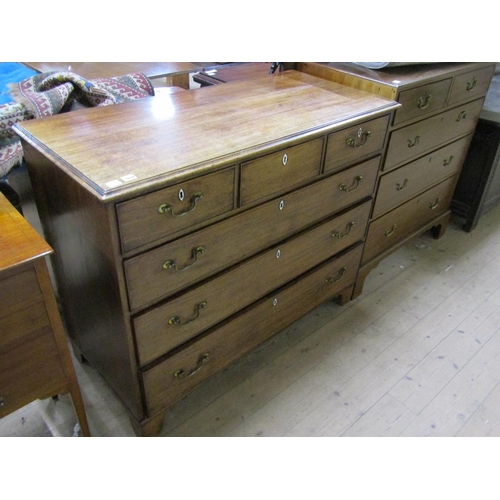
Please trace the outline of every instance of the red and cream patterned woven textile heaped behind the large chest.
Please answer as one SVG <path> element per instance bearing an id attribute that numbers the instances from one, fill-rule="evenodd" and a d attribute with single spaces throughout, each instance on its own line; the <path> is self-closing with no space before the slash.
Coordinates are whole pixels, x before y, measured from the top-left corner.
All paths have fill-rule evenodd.
<path id="1" fill-rule="evenodd" d="M 22 148 L 12 125 L 82 108 L 110 106 L 154 96 L 143 73 L 86 80 L 70 71 L 41 73 L 10 85 L 14 102 L 0 105 L 0 177 L 22 162 Z"/>

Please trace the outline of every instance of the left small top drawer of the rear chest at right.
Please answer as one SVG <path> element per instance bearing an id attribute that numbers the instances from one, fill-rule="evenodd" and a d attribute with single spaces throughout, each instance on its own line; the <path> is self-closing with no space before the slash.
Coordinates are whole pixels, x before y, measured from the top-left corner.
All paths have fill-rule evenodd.
<path id="1" fill-rule="evenodd" d="M 444 109 L 451 78 L 401 92 L 398 101 L 403 105 L 396 111 L 394 125 Z"/>

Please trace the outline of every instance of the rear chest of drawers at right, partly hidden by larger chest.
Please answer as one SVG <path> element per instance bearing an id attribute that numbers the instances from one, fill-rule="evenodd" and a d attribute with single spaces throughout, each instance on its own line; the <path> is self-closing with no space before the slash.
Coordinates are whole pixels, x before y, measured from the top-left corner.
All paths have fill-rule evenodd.
<path id="1" fill-rule="evenodd" d="M 495 63 L 421 64 L 366 69 L 298 63 L 298 69 L 398 101 L 353 297 L 369 272 L 429 229 L 441 236 Z"/>

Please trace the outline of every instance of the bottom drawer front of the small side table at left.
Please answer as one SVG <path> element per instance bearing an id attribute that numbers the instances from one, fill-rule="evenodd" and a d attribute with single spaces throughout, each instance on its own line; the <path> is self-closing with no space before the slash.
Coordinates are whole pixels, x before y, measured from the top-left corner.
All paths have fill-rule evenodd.
<path id="1" fill-rule="evenodd" d="M 51 333 L 0 353 L 0 418 L 35 399 L 58 394 L 65 385 Z"/>

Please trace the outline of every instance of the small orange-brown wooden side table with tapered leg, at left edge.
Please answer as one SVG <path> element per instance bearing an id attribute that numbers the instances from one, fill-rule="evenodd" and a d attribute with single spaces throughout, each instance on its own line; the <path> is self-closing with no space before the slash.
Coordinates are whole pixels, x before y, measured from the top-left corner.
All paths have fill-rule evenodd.
<path id="1" fill-rule="evenodd" d="M 70 393 L 90 436 L 45 256 L 52 248 L 0 193 L 0 418 Z"/>

